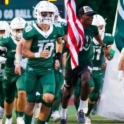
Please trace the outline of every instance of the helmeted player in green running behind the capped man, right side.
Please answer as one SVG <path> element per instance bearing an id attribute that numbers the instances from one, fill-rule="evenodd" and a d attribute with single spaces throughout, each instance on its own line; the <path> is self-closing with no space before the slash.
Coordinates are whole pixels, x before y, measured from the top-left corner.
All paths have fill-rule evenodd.
<path id="1" fill-rule="evenodd" d="M 106 22 L 105 19 L 101 15 L 94 15 L 93 18 L 93 25 L 96 25 L 98 27 L 99 34 L 101 36 L 101 39 L 103 43 L 109 47 L 114 42 L 114 37 L 111 34 L 105 33 L 105 26 Z M 94 104 L 97 102 L 99 98 L 99 92 L 102 85 L 102 79 L 103 79 L 103 58 L 104 58 L 104 52 L 100 46 L 100 44 L 97 42 L 95 38 L 93 38 L 93 71 L 92 76 L 90 79 L 90 93 L 88 97 L 88 111 L 85 114 L 85 124 L 91 124 L 91 119 L 89 117 Z M 112 50 L 113 51 L 113 50 Z M 114 51 L 113 51 L 114 52 Z M 111 53 L 111 58 L 113 58 L 114 54 Z"/>

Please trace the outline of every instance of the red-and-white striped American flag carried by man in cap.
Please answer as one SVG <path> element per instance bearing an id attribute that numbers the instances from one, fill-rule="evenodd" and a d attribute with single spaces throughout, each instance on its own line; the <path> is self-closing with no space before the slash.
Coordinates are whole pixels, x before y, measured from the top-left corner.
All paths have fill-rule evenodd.
<path id="1" fill-rule="evenodd" d="M 68 22 L 67 47 L 71 55 L 71 66 L 78 66 L 78 53 L 84 45 L 84 29 L 76 16 L 76 0 L 64 0 Z"/>

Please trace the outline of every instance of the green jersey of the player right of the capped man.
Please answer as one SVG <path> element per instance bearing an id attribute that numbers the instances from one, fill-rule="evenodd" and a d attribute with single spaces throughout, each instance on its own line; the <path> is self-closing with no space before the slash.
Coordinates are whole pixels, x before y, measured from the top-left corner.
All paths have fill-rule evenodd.
<path id="1" fill-rule="evenodd" d="M 105 33 L 103 37 L 103 43 L 108 46 L 108 45 L 112 45 L 113 42 L 114 42 L 114 37 L 111 34 Z M 104 53 L 100 44 L 96 40 L 93 40 L 93 50 L 94 50 L 93 67 L 101 68 Z"/>

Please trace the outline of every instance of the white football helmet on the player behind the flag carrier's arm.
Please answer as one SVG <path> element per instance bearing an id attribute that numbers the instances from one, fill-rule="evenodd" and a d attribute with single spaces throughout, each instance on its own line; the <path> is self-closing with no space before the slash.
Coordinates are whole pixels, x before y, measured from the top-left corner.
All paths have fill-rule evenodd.
<path id="1" fill-rule="evenodd" d="M 101 15 L 97 14 L 93 16 L 92 25 L 96 25 L 97 27 L 103 26 L 102 29 L 99 29 L 100 36 L 102 36 L 105 33 L 106 22 L 105 22 L 105 19 Z"/>

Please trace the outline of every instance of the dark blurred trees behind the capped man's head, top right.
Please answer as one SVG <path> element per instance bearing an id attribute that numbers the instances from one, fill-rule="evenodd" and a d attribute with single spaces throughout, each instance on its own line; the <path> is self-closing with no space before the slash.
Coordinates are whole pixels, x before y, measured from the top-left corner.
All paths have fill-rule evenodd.
<path id="1" fill-rule="evenodd" d="M 76 0 L 77 14 L 80 7 L 88 5 L 107 22 L 106 32 L 112 33 L 118 0 Z"/>

